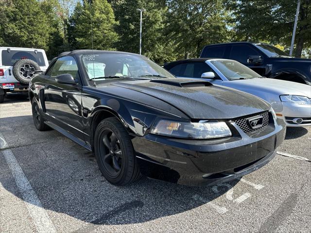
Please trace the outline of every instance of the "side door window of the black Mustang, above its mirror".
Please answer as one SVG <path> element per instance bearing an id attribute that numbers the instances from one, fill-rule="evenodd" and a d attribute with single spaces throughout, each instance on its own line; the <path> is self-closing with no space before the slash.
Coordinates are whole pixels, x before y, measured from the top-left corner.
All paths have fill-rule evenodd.
<path id="1" fill-rule="evenodd" d="M 46 73 L 53 80 L 60 74 L 71 74 L 73 78 L 79 80 L 78 66 L 73 57 L 65 56 L 57 59 Z"/>

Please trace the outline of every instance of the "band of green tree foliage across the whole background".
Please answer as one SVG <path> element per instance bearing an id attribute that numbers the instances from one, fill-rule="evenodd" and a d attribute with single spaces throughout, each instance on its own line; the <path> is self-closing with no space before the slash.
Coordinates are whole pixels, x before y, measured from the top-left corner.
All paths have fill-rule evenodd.
<path id="1" fill-rule="evenodd" d="M 157 63 L 197 57 L 205 45 L 265 41 L 289 50 L 296 0 L 0 0 L 0 46 L 139 52 Z M 72 7 L 76 5 L 76 7 Z M 115 17 L 116 16 L 116 17 Z M 311 56 L 311 0 L 301 0 L 296 57 Z"/>

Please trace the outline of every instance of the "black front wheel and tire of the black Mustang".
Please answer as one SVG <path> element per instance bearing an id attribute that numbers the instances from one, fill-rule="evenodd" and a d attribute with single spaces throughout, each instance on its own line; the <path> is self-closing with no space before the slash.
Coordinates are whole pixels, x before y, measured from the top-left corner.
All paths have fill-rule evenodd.
<path id="1" fill-rule="evenodd" d="M 94 148 L 98 166 L 108 182 L 125 185 L 140 178 L 130 136 L 117 118 L 106 118 L 99 123 Z"/>

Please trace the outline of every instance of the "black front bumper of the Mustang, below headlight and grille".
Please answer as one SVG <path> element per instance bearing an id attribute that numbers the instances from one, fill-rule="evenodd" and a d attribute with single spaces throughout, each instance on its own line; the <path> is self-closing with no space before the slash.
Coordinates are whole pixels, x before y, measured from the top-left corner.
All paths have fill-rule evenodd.
<path id="1" fill-rule="evenodd" d="M 140 171 L 154 179 L 191 186 L 226 182 L 270 162 L 286 133 L 282 119 L 252 135 L 243 133 L 233 122 L 230 128 L 233 136 L 213 140 L 174 139 L 153 134 L 135 137 L 132 142 Z"/>

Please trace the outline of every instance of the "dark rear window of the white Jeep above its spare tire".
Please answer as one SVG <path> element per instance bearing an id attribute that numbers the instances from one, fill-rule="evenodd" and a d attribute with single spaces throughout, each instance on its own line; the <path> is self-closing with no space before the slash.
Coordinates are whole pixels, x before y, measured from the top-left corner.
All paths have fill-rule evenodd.
<path id="1" fill-rule="evenodd" d="M 13 66 L 20 59 L 30 59 L 35 61 L 40 67 L 45 66 L 45 61 L 42 52 L 21 51 L 21 50 L 2 50 L 1 52 L 2 66 Z"/>

